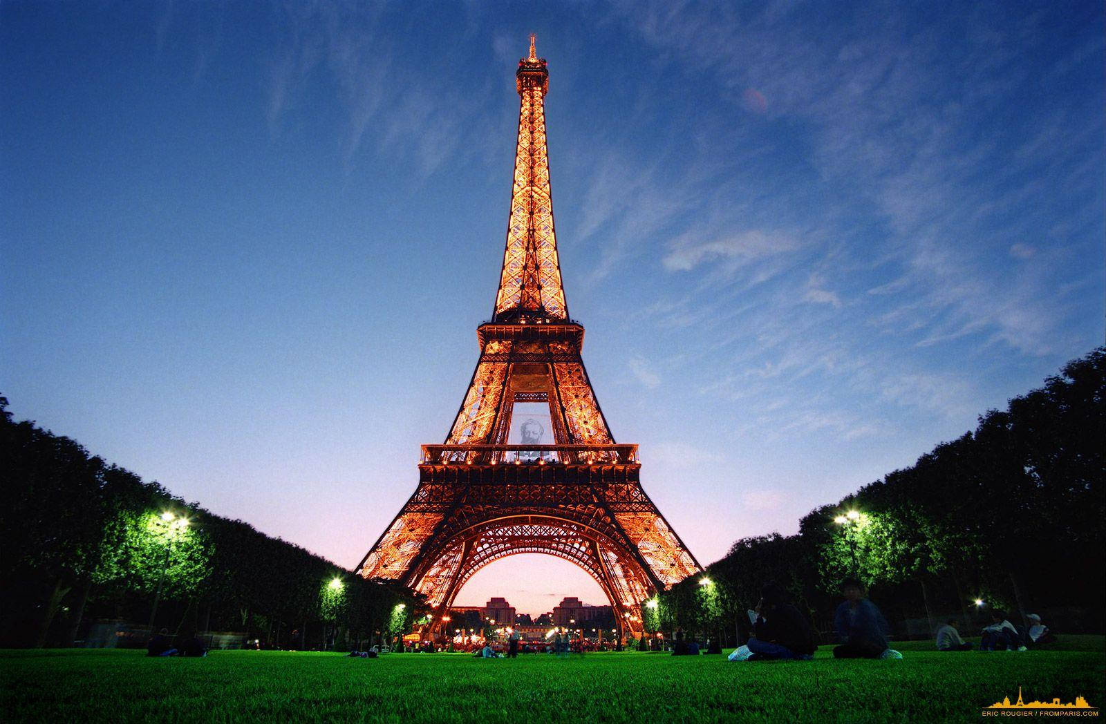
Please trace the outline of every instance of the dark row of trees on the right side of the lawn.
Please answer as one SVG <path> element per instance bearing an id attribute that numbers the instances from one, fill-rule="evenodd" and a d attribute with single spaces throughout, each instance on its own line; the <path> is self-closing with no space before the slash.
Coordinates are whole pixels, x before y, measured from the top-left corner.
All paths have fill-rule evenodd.
<path id="1" fill-rule="evenodd" d="M 899 636 L 928 636 L 939 616 L 979 622 L 991 607 L 1100 631 L 1104 441 L 1098 348 L 983 415 L 974 432 L 812 511 L 797 535 L 738 541 L 706 576 L 649 602 L 647 630 L 740 638 L 774 580 L 828 632 L 839 581 L 856 575 Z"/>

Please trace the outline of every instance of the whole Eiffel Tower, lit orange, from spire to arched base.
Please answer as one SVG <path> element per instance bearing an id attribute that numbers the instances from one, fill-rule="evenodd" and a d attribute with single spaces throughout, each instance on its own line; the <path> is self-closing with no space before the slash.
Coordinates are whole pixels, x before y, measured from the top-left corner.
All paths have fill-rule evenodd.
<path id="1" fill-rule="evenodd" d="M 415 493 L 361 562 L 365 578 L 425 594 L 428 631 L 480 568 L 517 553 L 571 560 L 599 584 L 622 633 L 641 604 L 701 570 L 641 489 L 636 444 L 617 444 L 568 317 L 553 230 L 545 59 L 519 61 L 519 140 L 507 250 L 480 359 L 445 444 L 422 445 Z M 553 444 L 508 444 L 520 402 L 549 406 Z M 541 409 L 541 408 L 539 408 Z M 523 436 L 526 437 L 526 436 Z"/>

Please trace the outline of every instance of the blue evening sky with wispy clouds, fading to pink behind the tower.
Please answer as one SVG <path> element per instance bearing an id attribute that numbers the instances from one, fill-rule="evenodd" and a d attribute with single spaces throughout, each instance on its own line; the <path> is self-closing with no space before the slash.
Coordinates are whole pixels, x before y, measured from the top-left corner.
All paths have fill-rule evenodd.
<path id="1" fill-rule="evenodd" d="M 4 2 L 15 416 L 355 565 L 476 363 L 530 32 L 585 363 L 700 562 L 1102 344 L 1098 2 Z"/>

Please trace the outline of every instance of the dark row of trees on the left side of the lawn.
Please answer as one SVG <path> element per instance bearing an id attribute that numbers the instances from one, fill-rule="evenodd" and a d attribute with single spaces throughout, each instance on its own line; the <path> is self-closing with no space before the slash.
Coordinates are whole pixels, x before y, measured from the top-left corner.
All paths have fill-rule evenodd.
<path id="1" fill-rule="evenodd" d="M 0 397 L 0 647 L 72 646 L 107 619 L 322 648 L 390 640 L 424 613 L 409 590 L 186 504 L 14 422 L 7 405 Z"/>

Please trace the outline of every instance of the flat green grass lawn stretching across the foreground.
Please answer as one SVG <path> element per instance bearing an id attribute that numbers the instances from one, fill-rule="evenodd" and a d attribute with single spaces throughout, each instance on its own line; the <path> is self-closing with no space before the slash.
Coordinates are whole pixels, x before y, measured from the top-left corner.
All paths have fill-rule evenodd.
<path id="1" fill-rule="evenodd" d="M 215 651 L 0 652 L 6 722 L 392 721 L 966 721 L 1018 696 L 1106 703 L 1106 639 L 1066 650 L 938 653 L 901 644 L 901 661 L 730 663 L 724 657 L 591 653 L 479 660 L 465 654 Z"/>

